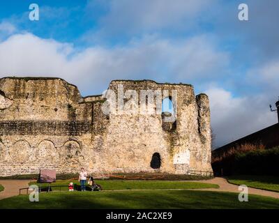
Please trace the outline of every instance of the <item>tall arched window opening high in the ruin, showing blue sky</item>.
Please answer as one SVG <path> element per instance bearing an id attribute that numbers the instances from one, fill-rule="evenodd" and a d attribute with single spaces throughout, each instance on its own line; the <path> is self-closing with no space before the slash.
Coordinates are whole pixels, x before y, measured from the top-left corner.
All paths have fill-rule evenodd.
<path id="1" fill-rule="evenodd" d="M 176 130 L 174 105 L 170 96 L 162 100 L 162 128 L 166 131 Z"/>

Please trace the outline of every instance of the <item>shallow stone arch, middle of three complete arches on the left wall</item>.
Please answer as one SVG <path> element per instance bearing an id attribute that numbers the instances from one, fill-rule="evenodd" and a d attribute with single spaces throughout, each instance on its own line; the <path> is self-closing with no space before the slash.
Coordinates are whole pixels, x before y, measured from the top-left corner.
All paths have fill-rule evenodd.
<path id="1" fill-rule="evenodd" d="M 59 160 L 59 154 L 54 143 L 47 139 L 40 141 L 36 147 L 36 159 L 39 159 L 40 162 L 57 162 Z"/>

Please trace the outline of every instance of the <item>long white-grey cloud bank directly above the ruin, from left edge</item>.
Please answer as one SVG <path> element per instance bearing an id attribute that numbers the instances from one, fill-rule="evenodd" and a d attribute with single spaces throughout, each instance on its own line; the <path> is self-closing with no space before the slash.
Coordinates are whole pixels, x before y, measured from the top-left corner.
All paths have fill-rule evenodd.
<path id="1" fill-rule="evenodd" d="M 206 36 L 175 43 L 146 36 L 125 47 L 80 52 L 68 43 L 17 34 L 0 43 L 0 74 L 62 77 L 83 93 L 100 93 L 112 79 L 182 82 L 215 74 L 227 63 L 228 55 L 210 42 Z"/>

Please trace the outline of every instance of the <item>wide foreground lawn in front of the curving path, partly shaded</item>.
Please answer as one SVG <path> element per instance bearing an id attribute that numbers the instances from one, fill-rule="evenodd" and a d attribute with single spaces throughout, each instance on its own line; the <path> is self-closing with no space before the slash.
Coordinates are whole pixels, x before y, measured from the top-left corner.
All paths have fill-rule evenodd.
<path id="1" fill-rule="evenodd" d="M 279 199 L 249 195 L 240 202 L 237 193 L 196 190 L 44 192 L 39 202 L 18 195 L 0 200 L 0 208 L 279 208 Z"/>

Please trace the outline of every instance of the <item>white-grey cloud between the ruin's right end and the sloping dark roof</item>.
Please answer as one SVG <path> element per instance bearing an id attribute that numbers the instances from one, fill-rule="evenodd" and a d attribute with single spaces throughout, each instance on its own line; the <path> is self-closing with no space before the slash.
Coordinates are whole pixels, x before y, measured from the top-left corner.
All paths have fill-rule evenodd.
<path id="1" fill-rule="evenodd" d="M 277 122 L 276 114 L 269 110 L 268 95 L 234 97 L 218 87 L 206 91 L 210 98 L 211 125 L 216 134 L 216 145 L 242 138 Z"/>

